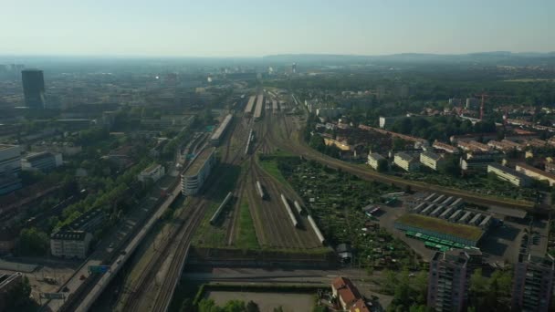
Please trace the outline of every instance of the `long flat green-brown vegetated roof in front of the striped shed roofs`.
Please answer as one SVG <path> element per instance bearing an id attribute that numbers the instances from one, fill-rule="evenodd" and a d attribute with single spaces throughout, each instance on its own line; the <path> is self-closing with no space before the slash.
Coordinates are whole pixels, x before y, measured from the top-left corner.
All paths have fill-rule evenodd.
<path id="1" fill-rule="evenodd" d="M 397 219 L 398 223 L 419 227 L 425 230 L 442 234 L 449 234 L 467 240 L 477 241 L 484 231 L 479 227 L 466 224 L 453 224 L 443 219 L 429 217 L 421 214 L 408 213 Z"/>

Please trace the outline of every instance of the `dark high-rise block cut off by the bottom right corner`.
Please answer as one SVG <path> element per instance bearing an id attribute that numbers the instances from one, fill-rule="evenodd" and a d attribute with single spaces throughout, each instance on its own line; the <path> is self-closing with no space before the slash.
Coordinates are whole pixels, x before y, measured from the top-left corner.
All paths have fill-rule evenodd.
<path id="1" fill-rule="evenodd" d="M 513 310 L 547 312 L 550 309 L 554 265 L 551 255 L 520 255 L 513 277 Z"/>

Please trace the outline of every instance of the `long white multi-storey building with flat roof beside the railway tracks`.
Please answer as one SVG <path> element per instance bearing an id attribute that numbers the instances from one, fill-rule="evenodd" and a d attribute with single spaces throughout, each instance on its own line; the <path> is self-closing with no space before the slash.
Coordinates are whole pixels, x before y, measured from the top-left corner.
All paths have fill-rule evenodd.
<path id="1" fill-rule="evenodd" d="M 195 195 L 200 192 L 215 166 L 215 148 L 201 151 L 182 174 L 183 195 Z"/>

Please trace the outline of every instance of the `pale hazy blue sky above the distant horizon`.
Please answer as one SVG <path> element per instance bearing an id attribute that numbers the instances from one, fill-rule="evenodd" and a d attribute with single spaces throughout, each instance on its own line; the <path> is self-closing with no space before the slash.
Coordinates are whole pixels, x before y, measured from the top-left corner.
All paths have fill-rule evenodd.
<path id="1" fill-rule="evenodd" d="M 555 0 L 0 0 L 0 54 L 555 51 Z"/>

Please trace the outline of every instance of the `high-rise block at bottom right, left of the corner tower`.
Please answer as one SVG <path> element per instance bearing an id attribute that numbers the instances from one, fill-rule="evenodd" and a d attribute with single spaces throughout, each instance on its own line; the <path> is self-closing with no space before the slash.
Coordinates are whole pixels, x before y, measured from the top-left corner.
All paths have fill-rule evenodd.
<path id="1" fill-rule="evenodd" d="M 470 275 L 480 263 L 479 251 L 456 249 L 435 253 L 430 263 L 428 307 L 435 311 L 464 311 Z"/>

